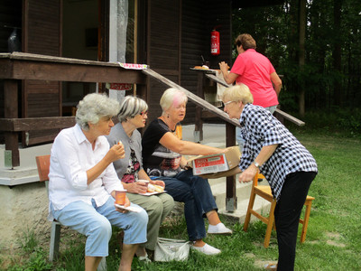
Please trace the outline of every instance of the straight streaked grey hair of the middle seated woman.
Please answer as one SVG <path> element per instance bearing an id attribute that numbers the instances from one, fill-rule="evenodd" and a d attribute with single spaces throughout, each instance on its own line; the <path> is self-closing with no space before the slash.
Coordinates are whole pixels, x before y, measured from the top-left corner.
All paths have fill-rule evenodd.
<path id="1" fill-rule="evenodd" d="M 128 95 L 120 102 L 118 119 L 120 122 L 124 122 L 146 110 L 148 110 L 148 105 L 142 98 Z"/>

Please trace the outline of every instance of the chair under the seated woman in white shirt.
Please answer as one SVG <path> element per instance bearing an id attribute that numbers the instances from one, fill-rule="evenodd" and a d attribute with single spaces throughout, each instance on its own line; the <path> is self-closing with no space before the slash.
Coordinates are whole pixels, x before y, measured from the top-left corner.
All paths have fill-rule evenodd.
<path id="1" fill-rule="evenodd" d="M 38 167 L 39 180 L 45 182 L 46 190 L 49 191 L 49 169 L 51 166 L 51 155 L 36 156 L 36 165 Z M 59 245 L 60 245 L 60 222 L 57 220 L 51 221 L 51 246 L 49 250 L 49 260 L 52 262 L 55 258 L 59 257 Z M 106 270 L 106 257 L 103 257 L 98 271 Z"/>

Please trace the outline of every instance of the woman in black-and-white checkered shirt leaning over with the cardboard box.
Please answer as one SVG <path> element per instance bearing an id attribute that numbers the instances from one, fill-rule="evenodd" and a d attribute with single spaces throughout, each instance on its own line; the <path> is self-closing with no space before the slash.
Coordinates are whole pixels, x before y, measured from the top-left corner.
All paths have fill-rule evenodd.
<path id="1" fill-rule="evenodd" d="M 310 152 L 264 107 L 254 106 L 245 84 L 223 93 L 224 110 L 237 118 L 245 147 L 239 164 L 239 182 L 251 182 L 260 170 L 277 201 L 274 220 L 277 229 L 280 270 L 293 270 L 302 206 L 310 183 L 318 172 Z"/>

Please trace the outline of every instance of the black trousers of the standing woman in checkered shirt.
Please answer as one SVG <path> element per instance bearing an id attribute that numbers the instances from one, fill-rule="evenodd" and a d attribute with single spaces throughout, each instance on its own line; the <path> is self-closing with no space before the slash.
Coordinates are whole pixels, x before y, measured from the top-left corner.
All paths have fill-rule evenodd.
<path id="1" fill-rule="evenodd" d="M 277 271 L 293 270 L 301 210 L 316 173 L 298 172 L 287 175 L 280 200 L 274 209 L 278 241 Z"/>

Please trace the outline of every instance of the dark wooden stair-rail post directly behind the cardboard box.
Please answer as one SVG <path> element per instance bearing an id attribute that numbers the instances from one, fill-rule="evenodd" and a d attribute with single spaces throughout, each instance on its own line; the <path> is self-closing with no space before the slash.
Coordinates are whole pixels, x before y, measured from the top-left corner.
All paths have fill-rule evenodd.
<path id="1" fill-rule="evenodd" d="M 226 146 L 236 145 L 236 126 L 226 123 Z M 236 197 L 236 175 L 226 179 L 226 210 L 235 211 L 237 209 Z"/>

